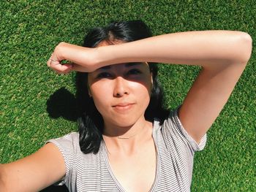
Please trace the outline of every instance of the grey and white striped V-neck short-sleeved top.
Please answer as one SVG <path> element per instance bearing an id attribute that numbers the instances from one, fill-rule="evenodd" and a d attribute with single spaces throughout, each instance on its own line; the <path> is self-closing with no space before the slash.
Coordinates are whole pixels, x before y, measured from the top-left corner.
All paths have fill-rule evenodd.
<path id="1" fill-rule="evenodd" d="M 153 138 L 157 169 L 151 191 L 190 191 L 194 153 L 203 150 L 206 135 L 197 145 L 174 110 L 162 126 L 159 120 L 154 120 Z M 67 185 L 69 191 L 124 191 L 111 171 L 104 141 L 97 154 L 80 151 L 77 132 L 48 142 L 59 147 L 64 157 L 66 175 L 59 185 Z"/>

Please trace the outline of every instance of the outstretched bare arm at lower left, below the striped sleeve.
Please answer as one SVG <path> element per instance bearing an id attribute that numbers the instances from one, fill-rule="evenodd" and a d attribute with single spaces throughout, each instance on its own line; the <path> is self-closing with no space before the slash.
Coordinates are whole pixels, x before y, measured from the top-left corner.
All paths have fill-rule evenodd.
<path id="1" fill-rule="evenodd" d="M 64 159 L 58 148 L 49 143 L 26 158 L 0 164 L 0 191 L 40 191 L 61 180 L 64 174 Z"/>

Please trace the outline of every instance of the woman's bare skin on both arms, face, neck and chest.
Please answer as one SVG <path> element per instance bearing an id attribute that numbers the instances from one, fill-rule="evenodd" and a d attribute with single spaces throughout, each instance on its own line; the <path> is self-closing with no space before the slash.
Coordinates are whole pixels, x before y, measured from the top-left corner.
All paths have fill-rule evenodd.
<path id="1" fill-rule="evenodd" d="M 91 96 L 94 97 L 105 120 L 103 137 L 108 147 L 111 169 L 127 191 L 145 191 L 151 187 L 155 173 L 156 155 L 151 137 L 152 125 L 143 119 L 140 110 L 133 116 L 133 107 L 120 114 L 111 107 L 116 101 L 125 101 L 121 100 L 124 98 L 137 103 L 137 94 L 146 97 L 145 102 L 140 103 L 144 107 L 148 102 L 151 76 L 146 75 L 146 78 L 139 80 L 132 77 L 131 80 L 126 76 L 127 69 L 124 65 L 128 62 L 148 61 L 202 67 L 178 114 L 190 136 L 200 142 L 227 102 L 244 71 L 251 51 L 252 39 L 244 32 L 189 31 L 97 48 L 62 42 L 56 46 L 51 56 L 54 61 L 49 59 L 48 66 L 58 73 L 92 72 L 89 75 L 89 86 Z M 64 59 L 73 64 L 61 65 L 60 62 Z M 111 66 L 110 71 L 114 76 L 110 79 L 95 80 L 94 71 L 102 66 Z M 99 90 L 99 82 L 102 81 L 110 83 L 109 91 Z M 139 88 L 142 93 L 138 93 Z M 108 93 L 106 98 L 110 105 L 102 104 L 99 93 L 104 96 Z M 108 112 L 120 115 L 120 120 L 111 118 Z M 131 119 L 127 118 L 129 115 Z M 141 132 L 138 132 L 139 128 Z M 130 139 L 117 139 L 117 136 L 131 136 L 135 133 L 138 134 Z M 143 164 L 145 158 L 148 159 L 148 164 Z M 130 166 L 131 163 L 135 166 Z M 0 191 L 39 191 L 60 180 L 64 174 L 65 166 L 61 153 L 54 145 L 48 144 L 22 160 L 1 164 Z M 131 177 L 134 179 L 129 180 Z M 142 177 L 145 179 L 142 180 Z"/>

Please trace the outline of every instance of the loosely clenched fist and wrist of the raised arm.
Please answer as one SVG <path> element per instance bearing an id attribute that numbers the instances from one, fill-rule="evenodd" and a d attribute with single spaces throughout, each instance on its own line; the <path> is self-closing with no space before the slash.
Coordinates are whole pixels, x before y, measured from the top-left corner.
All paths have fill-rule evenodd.
<path id="1" fill-rule="evenodd" d="M 92 72 L 98 68 L 96 50 L 97 48 L 80 47 L 61 42 L 55 47 L 47 64 L 58 74 L 67 74 L 72 71 Z M 68 62 L 63 64 L 62 61 Z"/>

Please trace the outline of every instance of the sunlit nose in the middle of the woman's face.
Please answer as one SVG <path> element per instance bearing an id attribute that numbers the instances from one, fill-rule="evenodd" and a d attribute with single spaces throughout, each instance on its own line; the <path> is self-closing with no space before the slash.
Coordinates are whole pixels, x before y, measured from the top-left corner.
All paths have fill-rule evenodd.
<path id="1" fill-rule="evenodd" d="M 129 94 L 127 80 L 125 80 L 123 77 L 116 77 L 114 83 L 115 84 L 114 84 L 113 96 L 121 97 L 126 94 Z"/>

